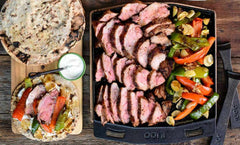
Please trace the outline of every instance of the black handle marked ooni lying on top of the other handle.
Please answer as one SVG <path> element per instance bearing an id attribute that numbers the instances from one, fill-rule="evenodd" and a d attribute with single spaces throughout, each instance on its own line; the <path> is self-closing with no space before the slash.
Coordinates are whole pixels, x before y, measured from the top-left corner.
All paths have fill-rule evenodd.
<path id="1" fill-rule="evenodd" d="M 226 130 L 228 126 L 228 120 L 230 116 L 230 109 L 233 102 L 233 96 L 236 94 L 236 87 L 238 86 L 240 80 L 240 73 L 227 71 L 228 75 L 228 90 L 227 95 L 218 118 L 216 133 L 212 137 L 211 145 L 223 145 Z"/>

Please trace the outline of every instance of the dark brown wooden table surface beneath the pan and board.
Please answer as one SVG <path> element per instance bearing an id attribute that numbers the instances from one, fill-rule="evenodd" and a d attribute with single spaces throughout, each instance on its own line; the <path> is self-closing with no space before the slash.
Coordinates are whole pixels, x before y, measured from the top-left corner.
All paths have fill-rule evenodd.
<path id="1" fill-rule="evenodd" d="M 95 138 L 93 135 L 93 126 L 90 121 L 90 72 L 89 72 L 89 12 L 93 9 L 103 8 L 117 4 L 130 2 L 131 0 L 112 0 L 113 2 L 104 4 L 98 0 L 83 0 L 83 6 L 86 11 L 87 27 L 83 40 L 83 57 L 87 64 L 86 74 L 83 77 L 83 131 L 80 135 L 69 136 L 65 140 L 53 142 L 53 144 L 123 144 L 114 141 L 107 141 Z M 157 1 L 157 0 L 156 0 Z M 217 13 L 217 35 L 221 42 L 231 41 L 232 45 L 232 63 L 234 71 L 240 72 L 240 0 L 207 0 L 206 2 L 191 2 L 186 0 L 174 0 L 173 2 L 182 2 L 195 6 L 213 9 Z M 0 5 L 4 0 L 0 0 Z M 10 56 L 0 45 L 0 144 L 40 144 L 25 138 L 22 135 L 15 135 L 11 131 L 10 116 L 10 98 L 11 98 L 11 66 Z M 218 92 L 221 99 L 224 98 L 226 87 L 224 86 L 224 74 L 222 62 L 218 57 Z M 16 72 L 18 73 L 18 72 Z M 240 87 L 238 87 L 240 92 Z M 177 135 L 177 134 L 176 134 Z M 190 142 L 179 144 L 208 144 L 210 138 L 192 140 Z M 240 129 L 228 129 L 224 144 L 239 144 Z M 43 143 L 42 143 L 43 144 Z M 45 143 L 44 143 L 45 144 Z M 49 143 L 50 144 L 50 143 Z M 125 144 L 125 143 L 124 143 Z"/>

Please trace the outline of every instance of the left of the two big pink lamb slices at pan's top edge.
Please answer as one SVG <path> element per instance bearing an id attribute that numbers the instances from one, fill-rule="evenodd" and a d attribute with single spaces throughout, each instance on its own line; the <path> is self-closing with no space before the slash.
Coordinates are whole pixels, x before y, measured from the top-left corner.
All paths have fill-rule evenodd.
<path id="1" fill-rule="evenodd" d="M 126 21 L 127 19 L 131 18 L 133 15 L 139 13 L 146 6 L 147 6 L 146 4 L 143 4 L 140 2 L 126 4 L 122 8 L 118 18 L 121 19 L 122 21 Z"/>

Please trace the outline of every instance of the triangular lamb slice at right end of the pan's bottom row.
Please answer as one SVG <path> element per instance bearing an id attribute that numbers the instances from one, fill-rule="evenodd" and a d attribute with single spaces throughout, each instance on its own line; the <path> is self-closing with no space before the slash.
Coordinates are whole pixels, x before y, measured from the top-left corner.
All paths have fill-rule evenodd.
<path id="1" fill-rule="evenodd" d="M 149 126 L 155 125 L 159 122 L 164 122 L 166 119 L 166 114 L 164 113 L 162 107 L 158 102 L 155 103 L 155 108 L 153 110 L 153 114 L 149 119 Z"/>

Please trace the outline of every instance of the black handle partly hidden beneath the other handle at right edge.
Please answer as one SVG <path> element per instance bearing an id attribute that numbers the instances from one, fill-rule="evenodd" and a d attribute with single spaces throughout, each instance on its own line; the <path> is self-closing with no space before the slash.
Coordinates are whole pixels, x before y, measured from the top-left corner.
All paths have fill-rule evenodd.
<path id="1" fill-rule="evenodd" d="M 230 42 L 219 44 L 218 51 L 222 57 L 224 69 L 232 71 Z M 240 102 L 238 99 L 237 89 L 235 91 L 237 93 L 235 93 L 233 97 L 233 104 L 232 104 L 232 109 L 230 114 L 230 125 L 232 129 L 240 127 Z"/>

